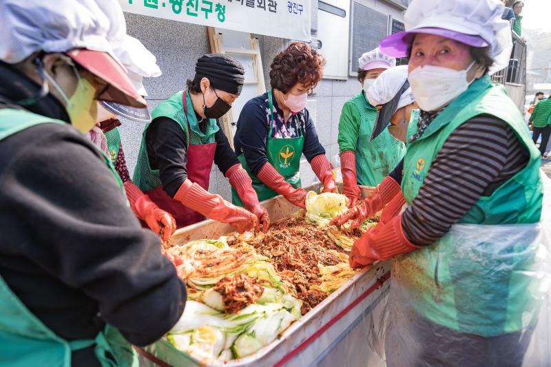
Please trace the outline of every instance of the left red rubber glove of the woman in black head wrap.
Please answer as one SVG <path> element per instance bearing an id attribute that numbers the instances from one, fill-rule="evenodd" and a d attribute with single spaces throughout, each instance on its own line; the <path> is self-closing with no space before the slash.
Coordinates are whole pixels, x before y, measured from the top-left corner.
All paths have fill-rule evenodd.
<path id="1" fill-rule="evenodd" d="M 240 233 L 251 231 L 258 225 L 256 216 L 247 209 L 236 207 L 236 205 L 222 199 L 222 196 L 209 193 L 209 191 L 187 178 L 178 189 L 174 200 L 178 200 L 186 207 L 198 211 L 207 218 L 229 223 L 231 227 Z"/>

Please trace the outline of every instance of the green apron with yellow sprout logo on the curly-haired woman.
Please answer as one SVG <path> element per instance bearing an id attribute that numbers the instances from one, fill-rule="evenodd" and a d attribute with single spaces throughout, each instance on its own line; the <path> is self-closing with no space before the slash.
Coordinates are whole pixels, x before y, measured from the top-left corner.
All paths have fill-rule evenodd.
<path id="1" fill-rule="evenodd" d="M 278 174 L 283 176 L 286 182 L 291 184 L 295 189 L 300 187 L 300 157 L 302 156 L 302 148 L 304 147 L 304 130 L 302 136 L 298 138 L 272 138 L 272 130 L 275 125 L 273 120 L 273 96 L 272 91 L 268 91 L 268 106 L 270 109 L 270 128 L 266 139 L 266 155 L 268 162 L 278 171 Z M 256 176 L 251 173 L 245 155 L 240 154 L 238 156 L 239 162 L 247 174 L 253 181 L 253 189 L 258 195 L 258 200 L 267 200 L 278 196 L 279 194 L 264 185 L 264 182 L 258 180 Z M 243 202 L 239 198 L 237 191 L 231 188 L 231 201 L 235 205 L 243 206 Z"/>

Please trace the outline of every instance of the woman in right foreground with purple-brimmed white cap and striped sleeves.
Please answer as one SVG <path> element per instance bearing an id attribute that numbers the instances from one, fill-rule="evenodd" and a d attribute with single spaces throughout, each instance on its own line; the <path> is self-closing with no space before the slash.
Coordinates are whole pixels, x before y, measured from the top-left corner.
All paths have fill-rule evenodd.
<path id="1" fill-rule="evenodd" d="M 549 365 L 548 349 L 538 362 L 526 350 L 548 288 L 540 254 L 550 213 L 526 123 L 488 75 L 510 55 L 501 14 L 498 0 L 413 0 L 406 32 L 380 43 L 410 57 L 421 110 L 397 167 L 400 187 L 370 210 L 402 203 L 388 204 L 351 251 L 355 267 L 399 255 L 388 366 Z M 537 342 L 548 345 L 547 334 Z"/>

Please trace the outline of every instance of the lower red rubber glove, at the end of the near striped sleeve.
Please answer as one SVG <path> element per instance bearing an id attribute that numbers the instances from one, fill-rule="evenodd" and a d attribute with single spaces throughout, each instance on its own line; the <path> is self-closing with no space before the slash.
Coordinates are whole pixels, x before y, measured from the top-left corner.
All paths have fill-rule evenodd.
<path id="1" fill-rule="evenodd" d="M 377 260 L 390 259 L 419 248 L 420 246 L 409 242 L 404 235 L 402 216 L 395 216 L 388 223 L 377 224 L 377 227 L 356 240 L 349 262 L 351 268 L 362 268 Z"/>

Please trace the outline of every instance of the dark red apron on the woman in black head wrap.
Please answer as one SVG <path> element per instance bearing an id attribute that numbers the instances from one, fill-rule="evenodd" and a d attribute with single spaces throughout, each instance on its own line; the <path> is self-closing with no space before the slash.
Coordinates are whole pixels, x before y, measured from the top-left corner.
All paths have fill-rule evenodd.
<path id="1" fill-rule="evenodd" d="M 186 92 L 182 97 L 184 113 L 187 116 Z M 187 178 L 200 185 L 205 190 L 209 190 L 209 179 L 212 163 L 214 162 L 214 153 L 216 152 L 216 143 L 207 143 L 202 145 L 191 144 L 191 130 L 187 123 L 189 144 L 187 147 Z M 178 200 L 174 200 L 163 190 L 163 185 L 146 192 L 149 198 L 155 202 L 160 209 L 167 211 L 174 216 L 176 227 L 181 228 L 205 220 L 202 214 L 185 207 Z"/>

